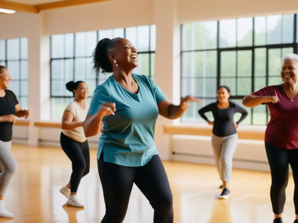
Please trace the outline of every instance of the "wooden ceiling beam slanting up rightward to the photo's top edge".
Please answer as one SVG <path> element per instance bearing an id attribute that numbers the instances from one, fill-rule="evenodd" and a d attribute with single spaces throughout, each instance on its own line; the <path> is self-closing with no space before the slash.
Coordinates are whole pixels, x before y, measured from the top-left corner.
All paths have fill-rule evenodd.
<path id="1" fill-rule="evenodd" d="M 98 3 L 103 1 L 111 1 L 111 0 L 64 0 L 64 1 L 54 1 L 49 3 L 36 4 L 34 5 L 34 7 L 40 11 L 45 11 L 45 10 L 51 10 L 51 9 L 57 9 L 57 8 L 76 6 L 76 5 Z"/>

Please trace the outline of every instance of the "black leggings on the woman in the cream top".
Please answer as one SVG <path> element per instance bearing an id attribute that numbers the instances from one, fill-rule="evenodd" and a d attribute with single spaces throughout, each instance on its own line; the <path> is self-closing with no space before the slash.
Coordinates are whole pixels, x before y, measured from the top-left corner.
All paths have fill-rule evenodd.
<path id="1" fill-rule="evenodd" d="M 61 132 L 60 144 L 63 151 L 72 161 L 72 175 L 70 177 L 70 191 L 77 192 L 81 178 L 89 173 L 90 153 L 88 140 L 77 142 Z"/>

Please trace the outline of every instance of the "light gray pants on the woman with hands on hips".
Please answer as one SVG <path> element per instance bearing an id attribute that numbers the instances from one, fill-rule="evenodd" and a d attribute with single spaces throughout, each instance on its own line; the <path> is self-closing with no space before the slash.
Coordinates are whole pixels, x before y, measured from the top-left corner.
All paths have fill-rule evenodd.
<path id="1" fill-rule="evenodd" d="M 212 134 L 211 144 L 213 147 L 215 165 L 222 181 L 231 181 L 233 155 L 237 143 L 237 133 L 225 137 L 218 137 Z"/>

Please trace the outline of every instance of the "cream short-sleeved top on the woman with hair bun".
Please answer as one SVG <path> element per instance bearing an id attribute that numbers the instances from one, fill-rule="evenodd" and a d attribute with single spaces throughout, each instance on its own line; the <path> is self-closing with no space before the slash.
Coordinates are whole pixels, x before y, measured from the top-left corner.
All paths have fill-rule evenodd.
<path id="1" fill-rule="evenodd" d="M 79 103 L 74 100 L 69 103 L 65 110 L 68 110 L 74 114 L 73 122 L 83 122 L 86 119 L 88 109 L 89 106 L 87 105 L 85 109 L 82 109 Z M 62 133 L 77 142 L 85 142 L 87 139 L 84 134 L 83 126 L 72 130 L 62 129 Z"/>

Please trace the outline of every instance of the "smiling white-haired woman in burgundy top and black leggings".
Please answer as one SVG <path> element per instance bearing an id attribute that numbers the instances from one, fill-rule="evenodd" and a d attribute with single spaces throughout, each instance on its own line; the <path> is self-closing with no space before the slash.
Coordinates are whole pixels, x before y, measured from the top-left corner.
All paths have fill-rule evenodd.
<path id="1" fill-rule="evenodd" d="M 283 84 L 264 87 L 243 98 L 243 105 L 255 107 L 267 104 L 270 121 L 265 132 L 265 148 L 271 170 L 271 204 L 274 223 L 283 223 L 285 189 L 288 185 L 289 164 L 295 183 L 294 205 L 298 223 L 298 55 L 283 59 Z"/>

